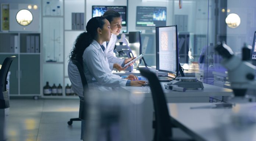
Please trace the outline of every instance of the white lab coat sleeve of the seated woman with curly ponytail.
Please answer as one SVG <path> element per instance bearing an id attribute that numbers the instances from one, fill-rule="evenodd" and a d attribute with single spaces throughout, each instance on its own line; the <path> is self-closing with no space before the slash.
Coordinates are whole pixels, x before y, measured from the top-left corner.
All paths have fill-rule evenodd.
<path id="1" fill-rule="evenodd" d="M 114 75 L 109 71 L 106 64 L 103 64 L 102 57 L 96 50 L 89 50 L 83 53 L 83 62 L 88 66 L 90 73 L 97 80 L 100 85 L 106 87 L 125 86 L 127 79 L 122 79 L 118 75 Z M 110 72 L 110 73 L 109 73 Z"/>

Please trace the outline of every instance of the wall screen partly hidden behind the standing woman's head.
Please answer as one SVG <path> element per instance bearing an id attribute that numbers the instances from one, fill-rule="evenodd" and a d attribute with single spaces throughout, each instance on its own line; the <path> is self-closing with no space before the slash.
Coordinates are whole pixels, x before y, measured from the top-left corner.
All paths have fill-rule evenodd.
<path id="1" fill-rule="evenodd" d="M 114 10 L 122 16 L 122 26 L 126 26 L 126 6 L 92 6 L 92 17 L 101 16 L 107 10 Z"/>

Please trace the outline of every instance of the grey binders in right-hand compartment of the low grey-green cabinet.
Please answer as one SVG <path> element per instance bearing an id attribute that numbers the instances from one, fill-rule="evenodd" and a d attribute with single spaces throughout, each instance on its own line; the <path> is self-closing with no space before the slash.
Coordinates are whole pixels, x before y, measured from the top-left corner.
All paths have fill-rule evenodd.
<path id="1" fill-rule="evenodd" d="M 26 36 L 26 52 L 39 53 L 39 36 Z"/>

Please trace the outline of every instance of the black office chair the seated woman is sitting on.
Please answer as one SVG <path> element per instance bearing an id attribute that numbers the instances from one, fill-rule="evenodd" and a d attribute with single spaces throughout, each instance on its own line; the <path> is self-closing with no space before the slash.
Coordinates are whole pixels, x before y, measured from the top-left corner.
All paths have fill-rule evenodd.
<path id="1" fill-rule="evenodd" d="M 85 74 L 83 73 L 83 67 L 77 60 L 71 59 L 71 61 L 78 68 L 83 85 L 83 96 L 85 96 L 85 92 L 88 90 L 88 83 L 86 81 Z M 71 118 L 70 121 L 68 121 L 68 125 L 72 125 L 73 121 L 81 121 L 81 119 L 84 120 L 84 101 L 80 99 L 79 116 L 78 118 Z"/>

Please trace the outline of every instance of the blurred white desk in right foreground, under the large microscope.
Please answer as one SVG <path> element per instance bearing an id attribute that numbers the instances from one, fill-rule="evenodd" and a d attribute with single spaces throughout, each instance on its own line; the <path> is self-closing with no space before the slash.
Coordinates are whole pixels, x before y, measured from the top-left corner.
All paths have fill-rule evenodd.
<path id="1" fill-rule="evenodd" d="M 255 118 L 256 103 L 236 104 L 230 109 L 190 109 L 211 103 L 168 103 L 173 124 L 197 141 L 255 141 L 256 122 L 235 124 L 234 115 Z M 251 112 L 248 112 L 251 111 Z M 234 118 L 233 118 L 234 119 Z M 238 119 L 236 119 L 239 121 Z M 234 121 L 234 120 L 233 120 Z M 240 120 L 241 121 L 241 120 Z"/>

